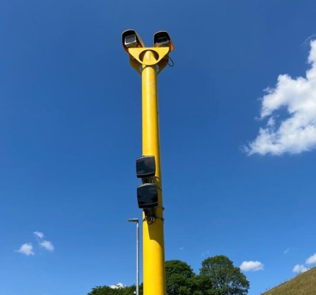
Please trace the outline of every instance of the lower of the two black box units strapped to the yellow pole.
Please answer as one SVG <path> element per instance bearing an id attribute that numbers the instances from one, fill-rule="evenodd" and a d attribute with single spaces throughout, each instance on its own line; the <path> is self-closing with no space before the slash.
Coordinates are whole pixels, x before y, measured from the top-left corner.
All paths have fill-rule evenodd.
<path id="1" fill-rule="evenodd" d="M 139 208 L 152 208 L 158 206 L 158 185 L 145 183 L 137 187 L 137 201 Z"/>

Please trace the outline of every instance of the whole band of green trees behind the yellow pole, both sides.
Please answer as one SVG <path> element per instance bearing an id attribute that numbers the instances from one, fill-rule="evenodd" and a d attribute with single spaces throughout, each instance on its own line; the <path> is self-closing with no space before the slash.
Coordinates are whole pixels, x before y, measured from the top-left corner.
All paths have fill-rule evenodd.
<path id="1" fill-rule="evenodd" d="M 203 260 L 198 275 L 186 262 L 166 261 L 167 295 L 247 295 L 248 289 L 246 276 L 224 255 Z M 135 291 L 135 285 L 118 289 L 97 286 L 88 295 L 134 295 Z M 143 295 L 143 284 L 140 295 Z"/>

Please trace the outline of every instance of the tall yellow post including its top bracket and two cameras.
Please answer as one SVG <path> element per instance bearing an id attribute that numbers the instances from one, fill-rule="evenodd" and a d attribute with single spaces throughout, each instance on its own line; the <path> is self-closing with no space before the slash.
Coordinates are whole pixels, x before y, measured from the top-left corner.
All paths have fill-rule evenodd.
<path id="1" fill-rule="evenodd" d="M 139 204 L 147 214 L 143 213 L 144 295 L 166 295 L 157 75 L 167 66 L 173 43 L 168 32 L 158 31 L 154 34 L 154 47 L 145 47 L 136 31 L 128 29 L 122 33 L 122 45 L 131 66 L 142 75 L 143 156 L 155 157 L 155 177 L 149 180 L 159 187 L 158 206 Z"/>

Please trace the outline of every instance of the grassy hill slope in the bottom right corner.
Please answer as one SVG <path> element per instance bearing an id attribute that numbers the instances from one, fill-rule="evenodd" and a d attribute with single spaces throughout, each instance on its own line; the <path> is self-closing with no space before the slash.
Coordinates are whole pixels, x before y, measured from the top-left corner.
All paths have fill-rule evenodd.
<path id="1" fill-rule="evenodd" d="M 316 267 L 262 295 L 316 295 Z"/>

